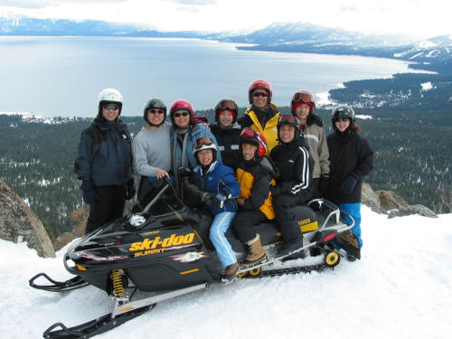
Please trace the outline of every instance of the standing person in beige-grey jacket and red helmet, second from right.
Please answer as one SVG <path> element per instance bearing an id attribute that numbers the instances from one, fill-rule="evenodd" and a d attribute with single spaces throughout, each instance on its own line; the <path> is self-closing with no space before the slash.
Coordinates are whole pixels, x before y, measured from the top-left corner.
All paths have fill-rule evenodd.
<path id="1" fill-rule="evenodd" d="M 313 198 L 318 198 L 325 192 L 330 175 L 325 123 L 315 114 L 315 98 L 307 89 L 297 90 L 290 101 L 290 108 L 300 122 L 301 134 L 309 145 L 309 154 L 314 158 Z"/>

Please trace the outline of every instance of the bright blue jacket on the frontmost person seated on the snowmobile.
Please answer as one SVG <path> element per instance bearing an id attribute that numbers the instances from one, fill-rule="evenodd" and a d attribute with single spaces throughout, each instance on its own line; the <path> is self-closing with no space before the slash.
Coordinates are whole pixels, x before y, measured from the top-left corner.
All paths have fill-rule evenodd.
<path id="1" fill-rule="evenodd" d="M 237 212 L 237 198 L 240 194 L 240 185 L 231 167 L 222 165 L 221 161 L 215 161 L 206 174 L 202 175 L 201 166 L 193 169 L 193 184 L 202 191 L 209 193 L 222 193 L 223 187 L 227 187 L 231 192 L 232 198 L 224 202 L 222 208 L 209 208 L 213 215 L 221 212 Z"/>

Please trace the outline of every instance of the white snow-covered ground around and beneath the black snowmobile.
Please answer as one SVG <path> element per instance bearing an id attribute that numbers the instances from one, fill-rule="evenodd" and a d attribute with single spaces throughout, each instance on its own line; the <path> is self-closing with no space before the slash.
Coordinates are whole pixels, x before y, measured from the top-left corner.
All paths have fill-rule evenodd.
<path id="1" fill-rule="evenodd" d="M 452 333 L 452 214 L 387 219 L 363 205 L 363 258 L 334 270 L 241 279 L 162 302 L 96 338 L 445 339 Z M 39 338 L 56 322 L 79 325 L 111 312 L 96 287 L 33 289 L 39 272 L 66 279 L 62 256 L 42 259 L 0 240 L 1 338 Z"/>

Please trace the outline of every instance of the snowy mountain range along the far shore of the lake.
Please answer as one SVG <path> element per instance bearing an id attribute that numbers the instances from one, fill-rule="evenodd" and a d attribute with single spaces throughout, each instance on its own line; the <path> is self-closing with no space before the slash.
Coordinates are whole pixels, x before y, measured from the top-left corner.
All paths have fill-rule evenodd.
<path id="1" fill-rule="evenodd" d="M 0 35 L 198 38 L 247 43 L 238 49 L 363 55 L 414 61 L 412 68 L 452 73 L 452 34 L 416 41 L 408 36 L 371 35 L 306 23 L 274 23 L 251 33 L 161 32 L 139 24 L 0 17 Z"/>

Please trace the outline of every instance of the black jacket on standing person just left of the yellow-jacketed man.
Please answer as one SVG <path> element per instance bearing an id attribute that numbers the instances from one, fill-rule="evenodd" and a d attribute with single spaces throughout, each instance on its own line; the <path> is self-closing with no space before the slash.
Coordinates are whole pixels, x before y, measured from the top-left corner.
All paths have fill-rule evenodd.
<path id="1" fill-rule="evenodd" d="M 240 152 L 240 125 L 232 124 L 231 128 L 223 129 L 218 124 L 210 126 L 212 135 L 216 137 L 221 152 L 223 165 L 231 167 L 234 171 L 241 159 Z"/>

